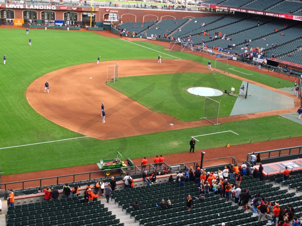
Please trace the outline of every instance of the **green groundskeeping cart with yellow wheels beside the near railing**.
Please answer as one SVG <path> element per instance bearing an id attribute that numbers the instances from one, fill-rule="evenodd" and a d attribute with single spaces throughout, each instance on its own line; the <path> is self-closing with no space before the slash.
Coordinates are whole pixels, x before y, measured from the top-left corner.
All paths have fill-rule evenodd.
<path id="1" fill-rule="evenodd" d="M 111 173 L 120 171 L 123 167 L 134 166 L 131 159 L 126 158 L 123 160 L 123 156 L 119 152 L 116 154 L 116 159 L 101 159 L 97 165 L 101 170 L 105 170 L 106 176 L 110 176 Z"/>

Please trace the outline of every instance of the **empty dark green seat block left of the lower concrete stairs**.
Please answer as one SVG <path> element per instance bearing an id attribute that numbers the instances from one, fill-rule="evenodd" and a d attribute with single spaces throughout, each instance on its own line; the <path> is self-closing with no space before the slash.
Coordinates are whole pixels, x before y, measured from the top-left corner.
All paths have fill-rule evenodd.
<path id="1" fill-rule="evenodd" d="M 8 207 L 7 226 L 123 226 L 101 201 L 81 198 L 44 201 Z"/>

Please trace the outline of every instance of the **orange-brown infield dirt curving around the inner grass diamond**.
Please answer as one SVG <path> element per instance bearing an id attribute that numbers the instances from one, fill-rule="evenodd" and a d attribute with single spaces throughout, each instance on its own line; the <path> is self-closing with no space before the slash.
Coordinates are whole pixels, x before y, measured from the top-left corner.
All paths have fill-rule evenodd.
<path id="1" fill-rule="evenodd" d="M 29 104 L 50 121 L 74 132 L 101 140 L 129 137 L 154 132 L 210 125 L 208 121 L 182 122 L 166 114 L 155 113 L 145 106 L 105 84 L 107 65 L 119 63 L 119 76 L 136 76 L 183 72 L 208 72 L 205 65 L 189 60 L 165 59 L 158 64 L 156 59 L 106 61 L 66 67 L 45 74 L 28 87 L 26 98 Z M 139 67 L 136 67 L 139 65 Z M 143 70 L 141 70 L 143 68 Z M 234 78 L 245 80 L 236 75 Z M 43 93 L 44 83 L 50 83 L 50 93 Z M 251 82 L 251 81 L 250 81 Z M 291 94 L 251 82 L 266 89 Z M 135 94 L 143 96 L 148 90 Z M 100 105 L 106 107 L 106 123 L 102 123 Z M 298 99 L 295 106 L 298 106 Z M 293 112 L 295 108 L 259 112 L 248 115 L 221 118 L 221 122 L 238 121 L 263 116 Z M 170 123 L 174 126 L 170 126 Z"/>

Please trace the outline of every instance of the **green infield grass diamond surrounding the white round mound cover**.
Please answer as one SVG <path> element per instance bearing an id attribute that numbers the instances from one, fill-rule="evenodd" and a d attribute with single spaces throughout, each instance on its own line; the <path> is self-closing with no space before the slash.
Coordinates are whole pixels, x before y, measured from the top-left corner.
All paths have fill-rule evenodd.
<path id="1" fill-rule="evenodd" d="M 188 88 L 210 87 L 224 93 L 230 86 L 240 87 L 242 81 L 223 74 L 214 77 L 213 73 L 187 72 L 124 77 L 119 78 L 118 83 L 108 84 L 155 112 L 171 115 L 181 121 L 197 121 L 203 116 L 204 97 L 188 93 Z M 147 95 L 134 95 L 151 86 L 152 92 Z M 236 97 L 223 94 L 211 98 L 220 101 L 219 116 L 230 116 Z M 159 104 L 161 109 L 156 107 Z"/>

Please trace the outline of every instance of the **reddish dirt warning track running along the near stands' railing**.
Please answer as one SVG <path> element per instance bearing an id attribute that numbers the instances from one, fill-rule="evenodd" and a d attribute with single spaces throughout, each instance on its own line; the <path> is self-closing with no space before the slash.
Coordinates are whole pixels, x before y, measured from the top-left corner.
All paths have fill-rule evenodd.
<path id="1" fill-rule="evenodd" d="M 301 137 L 295 137 L 290 139 L 282 139 L 282 140 L 276 140 L 276 141 L 267 141 L 267 142 L 261 142 L 261 143 L 252 143 L 252 144 L 243 144 L 243 145 L 235 145 L 231 146 L 230 148 L 212 148 L 212 149 L 206 149 L 206 150 L 198 150 L 195 151 L 195 153 L 189 153 L 183 152 L 183 153 L 174 153 L 165 155 L 165 162 L 167 164 L 177 164 L 177 163 L 186 163 L 186 162 L 194 162 L 194 161 L 200 161 L 201 157 L 201 151 L 205 151 L 205 157 L 204 157 L 204 166 L 212 166 L 217 164 L 226 164 L 230 163 L 230 159 L 225 160 L 215 160 L 215 161 L 206 161 L 207 159 L 213 159 L 213 158 L 221 158 L 226 156 L 234 156 L 239 163 L 246 160 L 247 153 L 251 152 L 259 152 L 259 151 L 266 151 L 271 149 L 277 149 L 277 148 L 287 148 L 287 147 L 294 147 L 301 145 Z M 263 156 L 264 157 L 264 156 Z M 148 157 L 148 161 L 150 163 L 153 162 L 153 157 Z M 142 158 L 139 159 L 132 159 L 135 165 L 140 165 Z M 47 175 L 48 177 L 55 177 L 60 175 L 66 175 L 68 174 L 76 174 L 76 173 L 85 173 L 89 171 L 97 171 L 98 166 L 97 164 L 91 164 L 91 165 L 82 165 L 82 166 L 76 166 L 76 167 L 69 167 L 69 168 L 61 168 L 61 169 L 55 169 L 55 170 L 43 170 L 38 172 L 30 172 L 30 173 L 22 173 L 22 174 L 14 174 L 14 175 L 5 175 L 1 176 L 2 183 L 8 183 L 13 181 L 22 181 L 22 180 L 32 180 L 32 179 L 38 179 L 41 178 L 41 175 Z M 104 175 L 101 173 L 94 173 L 91 175 L 91 179 L 94 178 L 101 178 Z M 88 180 L 89 175 L 80 175 L 76 176 L 76 180 Z M 64 177 L 59 179 L 59 183 L 65 183 L 73 181 L 73 177 Z M 57 180 L 43 180 L 42 185 L 51 185 L 56 184 Z M 27 182 L 25 183 L 25 187 L 35 187 L 40 186 L 39 181 L 36 182 Z M 10 185 L 13 189 L 22 189 L 22 184 L 14 184 Z"/>

